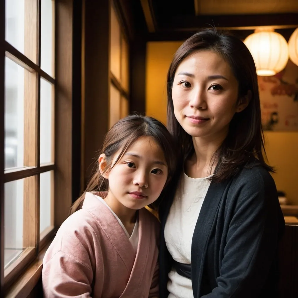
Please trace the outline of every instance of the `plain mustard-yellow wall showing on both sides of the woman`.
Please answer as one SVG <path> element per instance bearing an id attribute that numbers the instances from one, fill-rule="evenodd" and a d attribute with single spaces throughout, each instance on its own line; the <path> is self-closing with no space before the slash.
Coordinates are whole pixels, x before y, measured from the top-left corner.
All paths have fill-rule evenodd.
<path id="1" fill-rule="evenodd" d="M 167 122 L 167 70 L 173 54 L 182 42 L 149 42 L 146 58 L 146 114 Z M 298 205 L 298 132 L 265 132 L 269 163 L 278 190 L 289 203 Z"/>

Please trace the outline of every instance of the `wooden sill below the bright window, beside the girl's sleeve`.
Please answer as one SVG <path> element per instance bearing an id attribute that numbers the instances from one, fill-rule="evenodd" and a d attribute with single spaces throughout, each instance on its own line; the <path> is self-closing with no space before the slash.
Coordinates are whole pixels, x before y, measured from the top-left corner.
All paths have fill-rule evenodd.
<path id="1" fill-rule="evenodd" d="M 30 295 L 30 292 L 33 290 L 41 277 L 42 261 L 51 242 L 52 241 L 49 241 L 44 246 L 36 259 L 28 266 L 27 270 L 13 285 L 10 286 L 7 293 L 5 294 L 5 298 L 21 298 L 28 297 Z"/>

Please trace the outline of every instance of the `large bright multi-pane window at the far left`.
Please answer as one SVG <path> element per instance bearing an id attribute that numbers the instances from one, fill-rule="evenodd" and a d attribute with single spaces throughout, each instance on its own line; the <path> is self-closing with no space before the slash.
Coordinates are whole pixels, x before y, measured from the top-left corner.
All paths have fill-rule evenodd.
<path id="1" fill-rule="evenodd" d="M 1 272 L 10 283 L 54 231 L 55 1 L 5 0 L 4 16 Z"/>

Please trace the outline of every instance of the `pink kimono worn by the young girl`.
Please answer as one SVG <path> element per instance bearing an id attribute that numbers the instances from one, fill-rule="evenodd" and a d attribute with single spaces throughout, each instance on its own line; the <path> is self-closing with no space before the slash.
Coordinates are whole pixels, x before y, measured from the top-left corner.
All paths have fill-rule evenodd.
<path id="1" fill-rule="evenodd" d="M 135 253 L 108 207 L 86 193 L 46 251 L 44 297 L 158 297 L 158 235 L 158 220 L 140 209 Z"/>

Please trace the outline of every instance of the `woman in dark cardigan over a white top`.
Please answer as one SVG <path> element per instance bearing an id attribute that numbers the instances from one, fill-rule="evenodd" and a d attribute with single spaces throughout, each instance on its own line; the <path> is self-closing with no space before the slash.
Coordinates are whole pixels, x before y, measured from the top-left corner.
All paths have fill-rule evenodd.
<path id="1" fill-rule="evenodd" d="M 181 171 L 160 206 L 160 297 L 277 297 L 285 223 L 249 50 L 229 34 L 196 33 L 174 55 L 167 94 Z"/>

